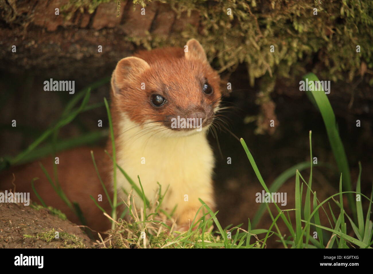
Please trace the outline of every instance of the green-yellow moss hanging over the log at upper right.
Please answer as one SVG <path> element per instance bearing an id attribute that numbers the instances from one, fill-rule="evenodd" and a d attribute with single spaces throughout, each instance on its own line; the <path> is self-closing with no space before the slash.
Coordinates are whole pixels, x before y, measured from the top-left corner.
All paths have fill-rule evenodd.
<path id="1" fill-rule="evenodd" d="M 93 12 L 100 3 L 108 1 L 70 0 L 68 5 Z M 148 2 L 133 0 L 143 7 Z M 184 13 L 189 16 L 193 11 L 198 12 L 202 27 L 187 25 L 183 31 L 168 37 L 147 33 L 125 40 L 151 49 L 164 45 L 182 47 L 186 39 L 195 37 L 203 43 L 210 61 L 220 67 L 220 72 L 246 62 L 251 86 L 266 73 L 280 77 L 303 74 L 307 71 L 305 66 L 314 63 L 315 58 L 317 65 L 311 70 L 321 79 L 332 81 L 352 82 L 363 62 L 368 69 L 373 68 L 372 1 L 161 2 L 169 4 L 178 18 Z M 314 8 L 317 15 L 313 15 Z M 227 14 L 228 9 L 231 15 Z M 275 52 L 270 52 L 271 45 Z M 357 45 L 361 47 L 360 53 L 356 52 Z M 372 75 L 367 81 L 373 84 Z"/>

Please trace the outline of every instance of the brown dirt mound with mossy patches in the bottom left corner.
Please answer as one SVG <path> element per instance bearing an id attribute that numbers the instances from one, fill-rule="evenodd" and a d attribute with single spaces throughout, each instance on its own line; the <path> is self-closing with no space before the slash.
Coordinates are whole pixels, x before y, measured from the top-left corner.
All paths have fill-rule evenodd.
<path id="1" fill-rule="evenodd" d="M 0 248 L 93 247 L 76 224 L 53 214 L 46 208 L 0 203 Z"/>

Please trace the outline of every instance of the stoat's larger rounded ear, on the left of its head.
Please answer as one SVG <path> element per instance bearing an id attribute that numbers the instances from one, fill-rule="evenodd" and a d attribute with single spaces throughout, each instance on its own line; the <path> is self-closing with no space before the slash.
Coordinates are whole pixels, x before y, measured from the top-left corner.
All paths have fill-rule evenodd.
<path id="1" fill-rule="evenodd" d="M 112 75 L 111 83 L 114 95 L 120 92 L 125 83 L 135 81 L 137 76 L 149 68 L 149 64 L 138 57 L 126 57 L 120 60 Z"/>

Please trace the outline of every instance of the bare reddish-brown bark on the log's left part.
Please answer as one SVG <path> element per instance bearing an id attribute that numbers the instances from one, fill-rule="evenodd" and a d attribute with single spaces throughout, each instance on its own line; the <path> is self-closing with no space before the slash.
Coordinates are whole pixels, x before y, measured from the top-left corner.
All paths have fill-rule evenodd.
<path id="1" fill-rule="evenodd" d="M 187 24 L 199 23 L 198 12 L 177 18 L 168 4 L 157 1 L 147 5 L 145 15 L 132 1 L 121 1 L 120 12 L 111 1 L 100 4 L 93 13 L 75 7 L 62 10 L 68 2 L 0 0 L 0 70 L 17 74 L 37 70 L 47 79 L 92 82 L 134 52 L 136 44 L 125 38 L 167 37 Z M 56 8 L 60 15 L 55 15 Z M 12 52 L 13 45 L 16 52 Z"/>

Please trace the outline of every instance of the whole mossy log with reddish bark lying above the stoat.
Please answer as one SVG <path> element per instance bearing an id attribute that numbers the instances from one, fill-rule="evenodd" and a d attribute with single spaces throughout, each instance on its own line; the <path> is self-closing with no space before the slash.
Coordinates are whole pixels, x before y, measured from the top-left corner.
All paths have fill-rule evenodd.
<path id="1" fill-rule="evenodd" d="M 0 70 L 88 84 L 138 48 L 183 47 L 194 37 L 219 72 L 244 63 L 248 86 L 273 86 L 266 97 L 292 96 L 286 83 L 311 71 L 336 83 L 331 97 L 370 105 L 372 14 L 373 2 L 359 0 L 0 0 Z"/>

